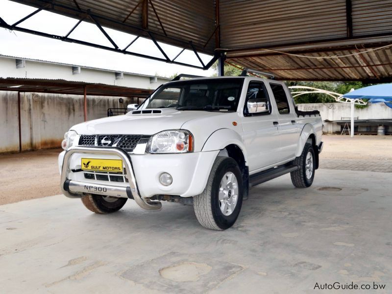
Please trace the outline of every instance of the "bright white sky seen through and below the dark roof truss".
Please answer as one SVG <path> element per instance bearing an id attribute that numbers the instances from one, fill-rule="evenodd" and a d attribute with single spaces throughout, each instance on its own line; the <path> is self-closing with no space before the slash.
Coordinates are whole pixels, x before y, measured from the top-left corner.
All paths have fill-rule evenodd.
<path id="1" fill-rule="evenodd" d="M 34 10 L 36 8 L 31 6 L 9 0 L 0 0 L 0 17 L 9 25 L 14 24 Z M 18 26 L 64 36 L 76 23 L 76 19 L 48 11 L 40 11 Z M 120 48 L 126 47 L 136 37 L 113 29 L 105 28 L 105 30 Z M 113 47 L 96 25 L 85 22 L 82 22 L 69 37 Z M 169 58 L 173 58 L 181 50 L 181 48 L 171 45 L 159 44 L 168 54 Z M 163 55 L 152 41 L 143 38 L 139 38 L 127 51 L 163 58 Z M 203 71 L 104 49 L 62 42 L 23 32 L 9 31 L 5 28 L 0 28 L 0 54 L 96 67 L 119 72 L 157 74 L 160 76 L 170 76 L 174 73 L 210 76 L 214 73 L 212 69 Z M 211 56 L 205 54 L 201 54 L 200 56 L 204 64 L 211 59 Z M 190 50 L 185 50 L 176 61 L 200 65 L 194 52 Z"/>

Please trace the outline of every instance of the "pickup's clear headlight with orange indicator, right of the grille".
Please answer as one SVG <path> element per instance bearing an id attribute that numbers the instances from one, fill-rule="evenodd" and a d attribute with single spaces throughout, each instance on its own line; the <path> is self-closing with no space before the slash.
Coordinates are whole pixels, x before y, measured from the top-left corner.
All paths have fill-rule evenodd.
<path id="1" fill-rule="evenodd" d="M 149 153 L 193 152 L 193 143 L 193 136 L 189 131 L 163 131 L 151 136 L 146 151 Z"/>

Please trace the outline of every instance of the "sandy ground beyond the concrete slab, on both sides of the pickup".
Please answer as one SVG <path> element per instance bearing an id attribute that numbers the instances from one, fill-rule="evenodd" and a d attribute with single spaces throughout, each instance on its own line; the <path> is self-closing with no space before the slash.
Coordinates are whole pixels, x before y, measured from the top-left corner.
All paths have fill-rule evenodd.
<path id="1" fill-rule="evenodd" d="M 323 136 L 320 168 L 392 172 L 392 136 Z M 0 205 L 61 194 L 62 149 L 0 155 Z"/>

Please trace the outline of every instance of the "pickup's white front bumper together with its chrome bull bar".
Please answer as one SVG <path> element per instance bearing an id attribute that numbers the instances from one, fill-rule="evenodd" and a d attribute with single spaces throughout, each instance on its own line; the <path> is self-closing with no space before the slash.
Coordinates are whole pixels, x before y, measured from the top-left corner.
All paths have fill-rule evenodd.
<path id="1" fill-rule="evenodd" d="M 85 194 L 133 198 L 147 210 L 161 208 L 158 201 L 150 201 L 154 195 L 190 197 L 200 194 L 207 182 L 217 151 L 190 152 L 183 154 L 128 154 L 116 147 L 72 147 L 59 155 L 61 189 L 65 196 L 80 198 Z M 119 158 L 123 160 L 128 182 L 90 181 L 83 173 L 74 171 L 80 165 L 80 157 Z M 80 166 L 79 166 L 80 167 Z M 163 186 L 159 175 L 168 172 L 173 182 Z"/>

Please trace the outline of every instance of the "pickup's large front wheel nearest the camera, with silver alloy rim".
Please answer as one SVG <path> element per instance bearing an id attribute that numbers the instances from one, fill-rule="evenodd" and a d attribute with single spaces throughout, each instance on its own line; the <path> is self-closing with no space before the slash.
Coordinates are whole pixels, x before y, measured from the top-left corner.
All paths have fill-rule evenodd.
<path id="1" fill-rule="evenodd" d="M 197 221 L 212 230 L 231 227 L 240 214 L 243 193 L 242 174 L 237 162 L 230 157 L 218 156 L 204 191 L 194 197 Z"/>

